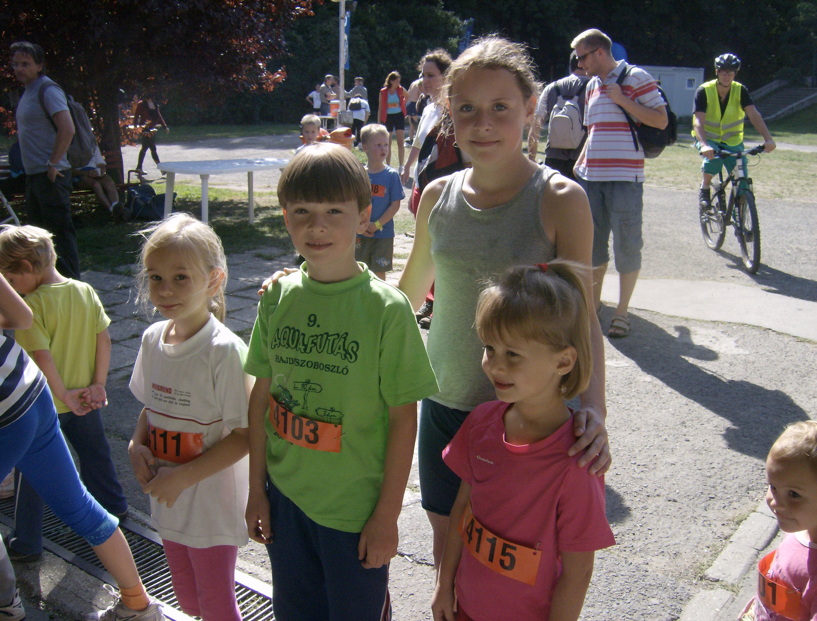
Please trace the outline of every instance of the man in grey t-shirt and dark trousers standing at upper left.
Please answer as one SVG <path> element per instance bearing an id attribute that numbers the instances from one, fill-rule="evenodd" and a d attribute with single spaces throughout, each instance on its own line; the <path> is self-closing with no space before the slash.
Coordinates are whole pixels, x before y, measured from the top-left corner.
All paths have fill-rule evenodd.
<path id="1" fill-rule="evenodd" d="M 32 224 L 54 235 L 57 270 L 68 278 L 79 279 L 77 234 L 71 221 L 71 164 L 67 157 L 74 138 L 74 121 L 65 93 L 46 77 L 44 67 L 42 47 L 27 41 L 11 44 L 11 68 L 25 87 L 16 112 L 25 168 L 25 206 Z"/>

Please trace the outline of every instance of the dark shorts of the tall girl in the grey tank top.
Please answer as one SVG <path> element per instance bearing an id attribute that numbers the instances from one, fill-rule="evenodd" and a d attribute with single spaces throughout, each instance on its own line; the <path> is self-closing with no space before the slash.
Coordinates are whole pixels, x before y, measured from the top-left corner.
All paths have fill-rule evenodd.
<path id="1" fill-rule="evenodd" d="M 460 486 L 460 478 L 443 461 L 443 449 L 462 427 L 468 414 L 431 399 L 423 399 L 420 404 L 417 434 L 420 499 L 423 509 L 440 516 L 451 513 Z"/>

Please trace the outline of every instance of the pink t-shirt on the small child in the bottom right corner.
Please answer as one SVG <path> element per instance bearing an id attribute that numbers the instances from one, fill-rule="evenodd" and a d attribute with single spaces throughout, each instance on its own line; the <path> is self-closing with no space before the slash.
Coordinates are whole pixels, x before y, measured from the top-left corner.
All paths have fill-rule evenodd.
<path id="1" fill-rule="evenodd" d="M 806 533 L 789 533 L 777 548 L 766 578 L 787 583 L 800 592 L 800 619 L 817 621 L 817 543 L 810 543 Z M 766 610 L 756 600 L 757 621 L 787 621 L 787 618 Z"/>

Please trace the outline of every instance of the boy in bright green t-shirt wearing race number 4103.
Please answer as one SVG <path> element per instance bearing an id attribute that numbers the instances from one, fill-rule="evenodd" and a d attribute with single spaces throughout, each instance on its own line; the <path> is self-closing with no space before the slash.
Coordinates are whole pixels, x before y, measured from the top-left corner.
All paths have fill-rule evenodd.
<path id="1" fill-rule="evenodd" d="M 438 391 L 408 299 L 355 261 L 372 188 L 355 155 L 312 145 L 278 185 L 301 271 L 269 288 L 244 369 L 251 538 L 279 621 L 377 621 L 417 433 Z"/>

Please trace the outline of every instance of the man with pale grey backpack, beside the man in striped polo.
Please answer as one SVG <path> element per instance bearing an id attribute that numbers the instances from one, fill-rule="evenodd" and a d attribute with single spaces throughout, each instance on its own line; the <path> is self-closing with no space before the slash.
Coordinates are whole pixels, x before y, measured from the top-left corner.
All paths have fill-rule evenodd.
<path id="1" fill-rule="evenodd" d="M 547 123 L 545 165 L 574 181 L 573 167 L 587 138 L 584 129 L 584 88 L 589 79 L 584 69 L 578 66 L 576 52 L 572 51 L 570 74 L 544 88 L 528 133 L 528 157 L 535 162 L 539 130 L 542 123 Z"/>

